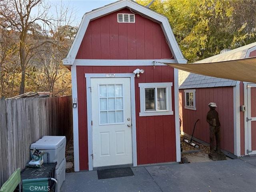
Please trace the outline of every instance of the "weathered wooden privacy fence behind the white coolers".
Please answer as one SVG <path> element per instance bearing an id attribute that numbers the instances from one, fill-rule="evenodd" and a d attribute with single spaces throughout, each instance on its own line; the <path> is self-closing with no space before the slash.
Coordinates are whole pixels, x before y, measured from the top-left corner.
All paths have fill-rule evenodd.
<path id="1" fill-rule="evenodd" d="M 25 168 L 32 143 L 72 134 L 71 96 L 0 100 L 0 186 L 16 168 Z"/>

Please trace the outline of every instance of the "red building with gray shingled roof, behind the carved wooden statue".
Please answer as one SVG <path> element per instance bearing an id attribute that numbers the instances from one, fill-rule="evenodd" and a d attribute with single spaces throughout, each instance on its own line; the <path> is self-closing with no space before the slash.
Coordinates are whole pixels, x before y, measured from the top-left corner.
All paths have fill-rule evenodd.
<path id="1" fill-rule="evenodd" d="M 195 63 L 255 57 L 256 42 L 225 51 Z M 223 152 L 232 158 L 256 154 L 256 84 L 179 70 L 179 96 L 182 134 L 191 137 L 194 123 L 199 119 L 193 137 L 209 143 L 206 114 L 208 103 L 215 102 L 220 117 Z"/>

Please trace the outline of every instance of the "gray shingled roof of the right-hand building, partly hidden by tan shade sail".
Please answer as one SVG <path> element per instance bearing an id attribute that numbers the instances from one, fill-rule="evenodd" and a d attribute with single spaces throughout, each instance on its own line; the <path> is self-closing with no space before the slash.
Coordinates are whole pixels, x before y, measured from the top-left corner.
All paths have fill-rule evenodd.
<path id="1" fill-rule="evenodd" d="M 248 50 L 255 46 L 256 42 L 194 63 L 210 63 L 243 59 L 247 57 Z M 218 72 L 218 70 L 216 70 L 216 72 Z M 179 70 L 179 89 L 235 86 L 237 83 L 238 81 L 235 80 L 204 76 Z"/>

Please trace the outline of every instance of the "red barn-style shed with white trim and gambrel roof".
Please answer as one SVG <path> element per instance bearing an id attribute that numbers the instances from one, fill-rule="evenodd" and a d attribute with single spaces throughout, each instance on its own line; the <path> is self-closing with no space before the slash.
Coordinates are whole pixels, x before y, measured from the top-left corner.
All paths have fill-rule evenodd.
<path id="1" fill-rule="evenodd" d="M 84 14 L 71 69 L 74 169 L 180 162 L 178 70 L 168 19 L 132 0 Z"/>

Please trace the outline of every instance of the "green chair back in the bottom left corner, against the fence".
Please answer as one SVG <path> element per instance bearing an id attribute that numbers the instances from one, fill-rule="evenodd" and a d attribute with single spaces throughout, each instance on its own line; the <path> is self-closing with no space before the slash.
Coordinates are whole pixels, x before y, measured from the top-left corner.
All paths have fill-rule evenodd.
<path id="1" fill-rule="evenodd" d="M 0 192 L 13 192 L 20 183 L 20 168 L 16 169 L 10 178 L 2 185 Z"/>

